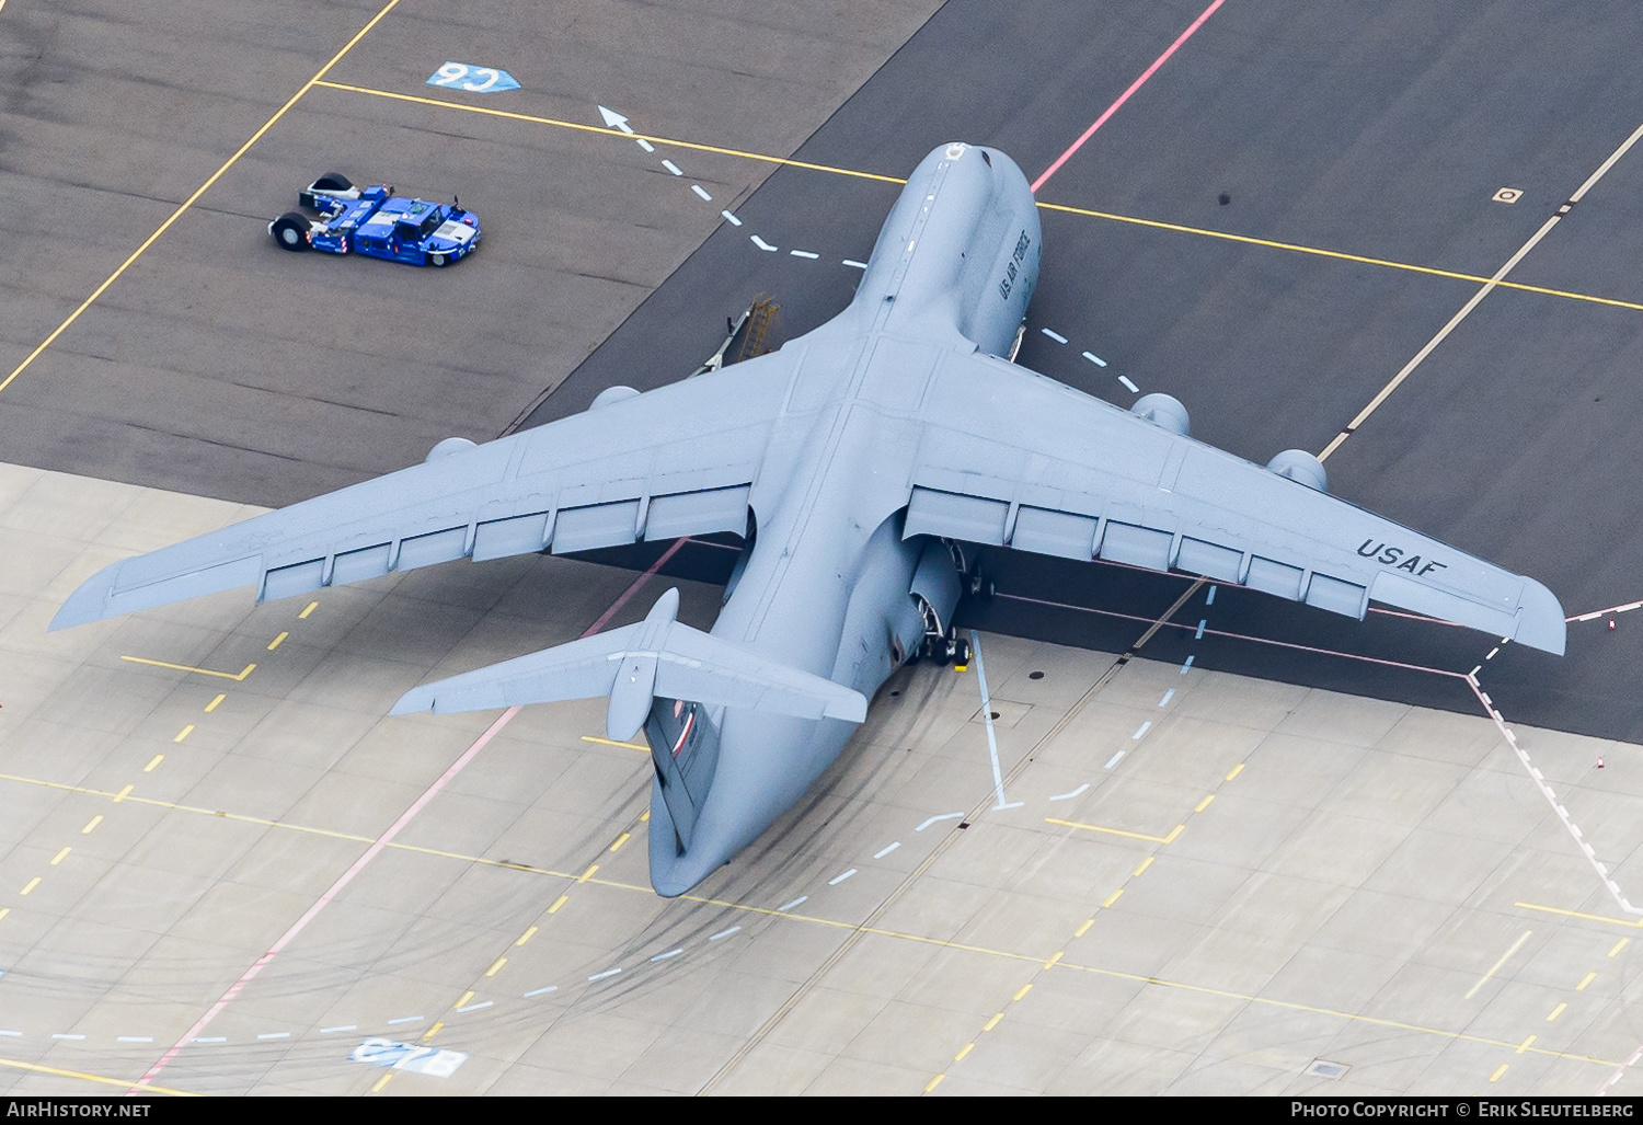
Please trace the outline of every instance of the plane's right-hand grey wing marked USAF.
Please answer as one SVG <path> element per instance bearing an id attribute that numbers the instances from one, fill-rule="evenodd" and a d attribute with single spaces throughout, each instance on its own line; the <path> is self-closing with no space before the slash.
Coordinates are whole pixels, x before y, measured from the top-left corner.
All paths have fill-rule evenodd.
<path id="1" fill-rule="evenodd" d="M 1370 601 L 1564 650 L 1546 586 L 983 355 L 923 396 L 907 534 L 1183 570 L 1362 619 Z"/>

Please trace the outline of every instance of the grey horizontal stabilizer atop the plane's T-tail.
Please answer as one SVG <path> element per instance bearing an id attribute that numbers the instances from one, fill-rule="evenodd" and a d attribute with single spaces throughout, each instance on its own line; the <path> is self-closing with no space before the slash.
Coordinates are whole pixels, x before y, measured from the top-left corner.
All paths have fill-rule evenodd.
<path id="1" fill-rule="evenodd" d="M 412 688 L 391 714 L 450 714 L 608 695 L 606 734 L 621 741 L 639 732 L 659 695 L 802 719 L 868 718 L 861 691 L 757 657 L 680 624 L 677 614 L 679 590 L 669 590 L 639 624 Z"/>

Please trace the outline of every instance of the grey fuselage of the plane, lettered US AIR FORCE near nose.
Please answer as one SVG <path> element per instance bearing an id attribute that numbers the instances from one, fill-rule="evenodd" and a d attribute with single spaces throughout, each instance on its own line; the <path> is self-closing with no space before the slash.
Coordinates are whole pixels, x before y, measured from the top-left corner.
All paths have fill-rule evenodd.
<path id="1" fill-rule="evenodd" d="M 854 301 L 784 348 L 798 363 L 752 486 L 757 534 L 716 637 L 868 698 L 917 650 L 923 621 L 909 590 L 925 540 L 902 537 L 905 458 L 881 452 L 920 440 L 920 399 L 945 351 L 1009 353 L 1038 255 L 1038 212 L 1014 161 L 945 145 L 918 164 Z M 716 760 L 687 829 L 675 831 L 662 780 L 652 782 L 651 880 L 662 895 L 751 844 L 856 729 L 736 709 L 698 719 L 693 737 L 716 739 Z M 654 721 L 647 734 L 657 757 L 683 737 Z"/>

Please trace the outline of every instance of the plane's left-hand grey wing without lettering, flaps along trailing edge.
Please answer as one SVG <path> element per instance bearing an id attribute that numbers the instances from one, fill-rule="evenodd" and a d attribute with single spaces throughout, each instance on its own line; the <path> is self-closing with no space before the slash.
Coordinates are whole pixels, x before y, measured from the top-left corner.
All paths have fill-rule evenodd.
<path id="1" fill-rule="evenodd" d="M 746 534 L 792 366 L 738 363 L 117 562 L 51 627 L 235 586 L 265 601 L 463 557 Z"/>

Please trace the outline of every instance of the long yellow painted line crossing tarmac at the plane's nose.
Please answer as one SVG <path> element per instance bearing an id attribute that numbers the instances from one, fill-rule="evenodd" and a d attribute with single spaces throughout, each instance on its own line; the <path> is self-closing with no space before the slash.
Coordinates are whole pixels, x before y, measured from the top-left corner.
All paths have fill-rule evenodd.
<path id="1" fill-rule="evenodd" d="M 437 107 L 447 108 L 447 110 L 462 110 L 462 112 L 467 112 L 467 113 L 483 113 L 486 117 L 511 118 L 511 120 L 526 122 L 526 123 L 531 123 L 531 125 L 552 125 L 552 126 L 557 126 L 557 128 L 568 128 L 568 130 L 577 130 L 577 131 L 582 131 L 582 133 L 598 133 L 601 136 L 628 138 L 628 133 L 623 133 L 621 130 L 605 128 L 605 126 L 600 126 L 600 125 L 583 125 L 582 122 L 562 122 L 562 120 L 557 120 L 557 118 L 552 118 L 552 117 L 537 117 L 537 115 L 532 115 L 532 113 L 516 113 L 516 112 L 511 112 L 511 110 L 498 110 L 498 108 L 491 108 L 488 105 L 462 105 L 458 102 L 447 102 L 447 100 L 442 100 L 442 99 L 419 97 L 419 95 L 414 95 L 414 94 L 394 94 L 393 90 L 378 90 L 378 89 L 371 89 L 371 87 L 365 87 L 365 85 L 348 85 L 348 84 L 343 84 L 343 82 L 315 82 L 314 85 L 319 85 L 319 87 L 324 87 L 324 89 L 329 89 L 329 90 L 342 90 L 342 92 L 347 92 L 347 94 L 363 94 L 363 95 L 370 95 L 370 97 L 393 99 L 393 100 L 398 100 L 398 102 L 419 102 L 419 103 L 424 103 L 424 105 L 437 105 Z M 639 136 L 639 133 L 634 133 L 633 136 Z M 741 159 L 761 161 L 761 163 L 767 163 L 767 164 L 780 164 L 780 166 L 789 166 L 789 168 L 802 168 L 802 169 L 813 171 L 813 172 L 830 172 L 833 176 L 849 176 L 849 177 L 856 177 L 856 179 L 879 181 L 879 182 L 884 182 L 884 184 L 905 184 L 907 182 L 907 179 L 904 176 L 882 176 L 879 172 L 866 172 L 866 171 L 854 169 L 854 168 L 838 168 L 835 164 L 813 164 L 810 161 L 798 161 L 798 159 L 790 159 L 790 158 L 782 158 L 782 156 L 769 156 L 766 153 L 749 153 L 749 151 L 744 151 L 744 149 L 723 148 L 723 146 L 718 146 L 718 145 L 703 145 L 703 143 L 698 143 L 698 141 L 682 141 L 682 140 L 667 138 L 667 136 L 646 136 L 644 140 L 656 141 L 657 145 L 670 145 L 674 148 L 693 149 L 693 151 L 700 151 L 700 153 L 716 153 L 720 156 L 736 156 L 736 158 L 741 158 Z M 1222 240 L 1222 241 L 1237 241 L 1237 243 L 1244 243 L 1244 245 L 1250 245 L 1250 246 L 1265 246 L 1268 250 L 1285 250 L 1285 251 L 1301 253 L 1301 255 L 1311 255 L 1311 256 L 1318 256 L 1318 258 L 1332 258 L 1332 259 L 1337 259 L 1337 261 L 1351 261 L 1351 263 L 1357 263 L 1357 264 L 1362 264 L 1362 266 L 1380 266 L 1380 268 L 1385 268 L 1385 269 L 1401 269 L 1405 273 L 1428 274 L 1428 276 L 1433 276 L 1433 278 L 1447 278 L 1451 281 L 1469 281 L 1469 282 L 1474 282 L 1474 284 L 1485 284 L 1485 282 L 1489 282 L 1489 278 L 1484 278 L 1480 274 L 1469 274 L 1469 273 L 1461 273 L 1461 271 L 1454 271 L 1454 269 L 1439 269 L 1436 266 L 1418 266 L 1415 263 L 1393 261 L 1390 258 L 1374 258 L 1374 256 L 1369 256 L 1369 255 L 1354 255 L 1354 253 L 1347 253 L 1344 250 L 1328 250 L 1328 248 L 1323 248 L 1323 246 L 1306 246 L 1303 243 L 1290 243 L 1290 241 L 1280 241 L 1280 240 L 1273 240 L 1273 238 L 1257 238 L 1254 235 L 1237 235 L 1237 233 L 1231 233 L 1231 232 L 1224 232 L 1224 230 L 1209 230 L 1206 227 L 1190 227 L 1186 223 L 1171 223 L 1171 222 L 1165 222 L 1165 220 L 1158 220 L 1158 218 L 1140 218 L 1137 215 L 1119 215 L 1116 212 L 1094 210 L 1094 209 L 1089 209 L 1089 207 L 1073 207 L 1073 205 L 1068 205 L 1068 204 L 1038 202 L 1038 207 L 1042 210 L 1063 212 L 1063 214 L 1068 214 L 1068 215 L 1079 215 L 1079 217 L 1084 217 L 1084 218 L 1104 218 L 1107 222 L 1116 222 L 1116 223 L 1127 223 L 1127 225 L 1134 225 L 1134 227 L 1150 227 L 1153 230 L 1168 230 L 1168 232 L 1175 232 L 1175 233 L 1181 233 L 1181 235 L 1199 235 L 1203 238 L 1217 238 L 1217 240 Z M 854 263 L 846 263 L 846 264 L 854 264 Z M 1531 284 L 1520 282 L 1520 281 L 1498 281 L 1495 284 L 1497 284 L 1498 289 L 1516 289 L 1520 292 L 1533 292 L 1533 294 L 1539 294 L 1539 296 L 1546 296 L 1546 297 L 1562 297 L 1566 301 L 1585 301 L 1585 302 L 1592 302 L 1592 304 L 1613 305 L 1613 307 L 1618 307 L 1618 309 L 1633 309 L 1636 312 L 1643 312 L 1643 302 L 1636 302 L 1636 301 L 1622 301 L 1622 299 L 1617 299 L 1617 297 L 1599 297 L 1595 294 L 1576 292 L 1576 291 L 1571 291 L 1571 289 L 1553 289 L 1553 287 L 1548 287 L 1548 286 L 1531 286 Z"/>

